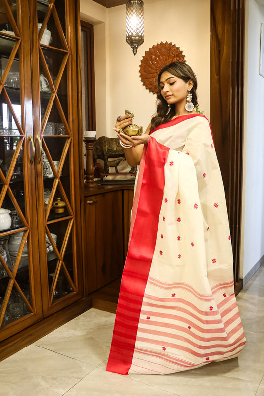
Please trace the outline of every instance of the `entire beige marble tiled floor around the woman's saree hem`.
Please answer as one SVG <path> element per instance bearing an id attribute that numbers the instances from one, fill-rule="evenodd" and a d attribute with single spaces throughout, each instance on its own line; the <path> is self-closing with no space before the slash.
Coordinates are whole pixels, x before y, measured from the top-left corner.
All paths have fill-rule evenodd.
<path id="1" fill-rule="evenodd" d="M 166 376 L 108 373 L 115 315 L 90 309 L 0 362 L 0 396 L 264 396 L 264 266 L 237 301 L 247 338 L 237 359 Z"/>

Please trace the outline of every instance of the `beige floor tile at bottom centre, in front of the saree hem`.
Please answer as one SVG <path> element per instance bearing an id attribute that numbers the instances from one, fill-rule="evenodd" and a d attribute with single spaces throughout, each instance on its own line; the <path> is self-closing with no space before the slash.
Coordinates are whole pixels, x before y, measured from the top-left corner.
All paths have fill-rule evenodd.
<path id="1" fill-rule="evenodd" d="M 165 378 L 164 378 L 165 380 Z M 113 374 L 95 369 L 78 384 L 71 388 L 64 396 L 171 396 L 180 394 L 169 392 L 134 381 L 129 376 Z"/>

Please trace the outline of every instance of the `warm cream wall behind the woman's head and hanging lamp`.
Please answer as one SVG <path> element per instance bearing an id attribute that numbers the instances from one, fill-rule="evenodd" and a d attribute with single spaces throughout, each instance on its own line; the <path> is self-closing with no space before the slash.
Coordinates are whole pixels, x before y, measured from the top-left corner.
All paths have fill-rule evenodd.
<path id="1" fill-rule="evenodd" d="M 126 108 L 136 124 L 148 126 L 156 96 L 142 85 L 139 66 L 145 51 L 161 41 L 183 51 L 198 78 L 200 111 L 210 117 L 210 0 L 144 0 L 144 43 L 135 56 L 126 43 L 125 5 L 106 9 L 80 0 L 80 10 L 82 19 L 95 23 L 97 136 L 115 136 L 115 119 Z"/>

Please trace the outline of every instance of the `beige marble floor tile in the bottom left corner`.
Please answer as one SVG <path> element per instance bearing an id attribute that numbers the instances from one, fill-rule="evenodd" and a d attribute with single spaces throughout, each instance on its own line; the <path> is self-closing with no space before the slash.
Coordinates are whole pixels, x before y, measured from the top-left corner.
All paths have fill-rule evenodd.
<path id="1" fill-rule="evenodd" d="M 61 396 L 93 366 L 31 345 L 0 362 L 1 396 Z"/>

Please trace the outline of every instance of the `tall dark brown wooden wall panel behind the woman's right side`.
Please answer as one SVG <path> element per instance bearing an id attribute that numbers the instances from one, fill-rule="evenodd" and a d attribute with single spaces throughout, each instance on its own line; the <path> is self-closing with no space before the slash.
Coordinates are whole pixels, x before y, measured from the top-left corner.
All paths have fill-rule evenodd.
<path id="1" fill-rule="evenodd" d="M 211 0 L 211 126 L 223 176 L 239 284 L 245 0 Z"/>

